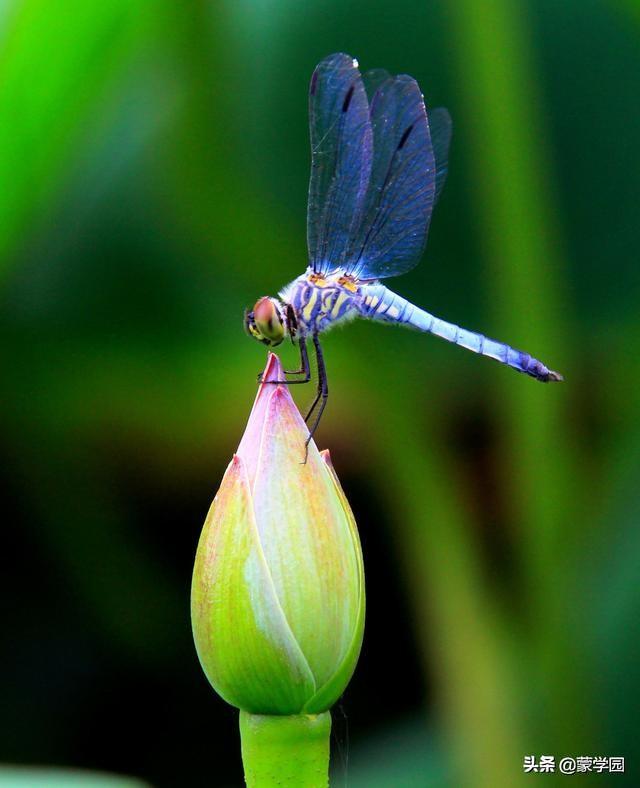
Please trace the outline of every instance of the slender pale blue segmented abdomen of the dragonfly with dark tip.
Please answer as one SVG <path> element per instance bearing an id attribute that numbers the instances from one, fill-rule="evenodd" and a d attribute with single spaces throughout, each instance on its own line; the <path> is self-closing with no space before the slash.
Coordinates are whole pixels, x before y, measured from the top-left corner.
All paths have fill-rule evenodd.
<path id="1" fill-rule="evenodd" d="M 418 331 L 435 334 L 437 337 L 446 339 L 447 342 L 460 345 L 460 347 L 481 356 L 493 358 L 501 364 L 506 364 L 543 383 L 562 380 L 562 375 L 550 370 L 528 353 L 516 350 L 504 342 L 489 339 L 483 334 L 477 334 L 446 320 L 441 320 L 407 301 L 406 298 L 392 292 L 384 285 L 367 286 L 366 292 L 363 293 L 362 316 L 373 320 L 400 323 L 416 328 Z"/>

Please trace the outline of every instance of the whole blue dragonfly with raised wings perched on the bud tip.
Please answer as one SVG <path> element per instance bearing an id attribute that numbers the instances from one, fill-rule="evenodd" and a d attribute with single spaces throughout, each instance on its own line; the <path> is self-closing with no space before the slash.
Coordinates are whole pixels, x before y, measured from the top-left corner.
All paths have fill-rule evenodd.
<path id="1" fill-rule="evenodd" d="M 543 383 L 561 381 L 528 353 L 441 320 L 381 281 L 411 270 L 424 251 L 447 174 L 447 110 L 427 113 L 412 77 L 381 69 L 362 75 L 357 60 L 337 53 L 311 77 L 309 127 L 308 267 L 278 298 L 264 296 L 245 313 L 250 336 L 269 348 L 289 338 L 299 348 L 300 369 L 285 373 L 296 379 L 270 382 L 308 383 L 313 344 L 318 384 L 308 441 L 329 396 L 320 335 L 354 318 L 409 326 Z"/>

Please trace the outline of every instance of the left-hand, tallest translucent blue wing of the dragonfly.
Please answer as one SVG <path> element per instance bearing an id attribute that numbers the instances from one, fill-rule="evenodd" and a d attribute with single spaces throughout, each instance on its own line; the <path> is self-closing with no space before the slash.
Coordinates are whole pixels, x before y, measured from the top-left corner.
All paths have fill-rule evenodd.
<path id="1" fill-rule="evenodd" d="M 345 264 L 349 239 L 361 224 L 373 157 L 369 102 L 352 57 L 330 55 L 316 67 L 309 127 L 309 264 L 327 273 Z"/>

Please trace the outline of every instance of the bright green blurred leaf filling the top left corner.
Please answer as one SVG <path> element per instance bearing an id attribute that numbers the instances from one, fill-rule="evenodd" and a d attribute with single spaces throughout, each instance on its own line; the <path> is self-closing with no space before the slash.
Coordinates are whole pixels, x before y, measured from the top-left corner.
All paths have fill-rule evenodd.
<path id="1" fill-rule="evenodd" d="M 87 126 L 156 31 L 162 4 L 15 3 L 0 41 L 0 260 L 52 210 Z M 158 15 L 159 16 L 159 15 Z"/>

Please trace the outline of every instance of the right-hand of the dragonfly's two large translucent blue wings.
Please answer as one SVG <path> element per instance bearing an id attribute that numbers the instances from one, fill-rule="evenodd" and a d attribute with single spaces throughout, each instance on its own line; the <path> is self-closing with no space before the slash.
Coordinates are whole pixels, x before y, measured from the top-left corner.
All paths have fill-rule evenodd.
<path id="1" fill-rule="evenodd" d="M 413 268 L 424 249 L 436 191 L 436 165 L 418 83 L 389 78 L 371 101 L 374 160 L 362 220 L 346 269 L 360 279 Z"/>

